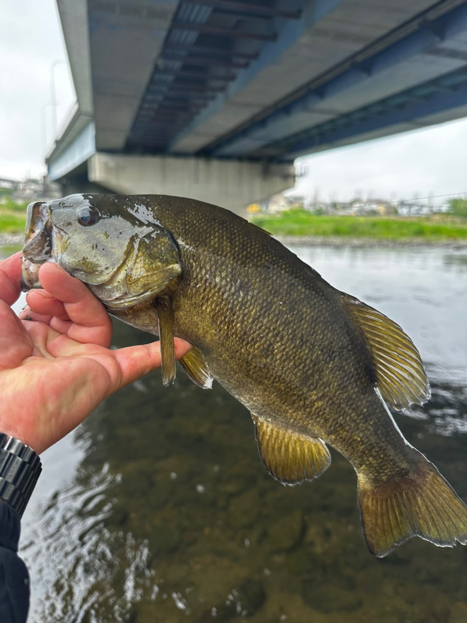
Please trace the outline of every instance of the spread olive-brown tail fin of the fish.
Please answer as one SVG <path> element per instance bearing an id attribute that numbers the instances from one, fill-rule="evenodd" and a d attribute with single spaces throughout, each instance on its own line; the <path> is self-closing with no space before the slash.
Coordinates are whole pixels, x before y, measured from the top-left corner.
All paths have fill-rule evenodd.
<path id="1" fill-rule="evenodd" d="M 395 482 L 371 482 L 357 473 L 362 527 L 368 548 L 382 558 L 420 536 L 441 547 L 467 543 L 467 506 L 417 450 L 418 464 Z"/>

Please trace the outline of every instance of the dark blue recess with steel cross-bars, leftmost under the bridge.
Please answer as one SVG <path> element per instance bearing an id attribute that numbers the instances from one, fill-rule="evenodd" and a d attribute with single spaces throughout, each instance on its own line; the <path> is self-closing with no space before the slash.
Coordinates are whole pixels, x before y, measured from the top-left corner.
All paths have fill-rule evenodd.
<path id="1" fill-rule="evenodd" d="M 295 8 L 295 4 L 303 3 L 303 1 L 305 0 L 293 0 L 291 8 Z M 311 0 L 306 1 L 311 2 Z M 144 146 L 145 151 L 164 152 L 182 128 L 189 126 L 198 116 L 193 110 L 191 118 L 186 119 L 183 125 L 169 126 L 170 132 L 167 131 L 165 121 L 159 118 L 159 108 L 171 97 L 171 83 L 177 83 L 172 90 L 181 88 L 179 70 L 184 71 L 187 67 L 192 69 L 196 67 L 198 71 L 205 69 L 205 91 L 210 95 L 205 97 L 203 102 L 204 108 L 209 108 L 216 100 L 215 94 L 224 95 L 225 90 L 229 89 L 229 83 L 238 82 L 238 74 L 242 72 L 236 70 L 248 70 L 250 62 L 257 62 L 263 45 L 276 45 L 277 33 L 283 30 L 284 23 L 291 19 L 301 21 L 300 11 L 279 11 L 269 4 L 270 2 L 263 6 L 257 5 L 257 2 L 243 3 L 229 0 L 207 0 L 206 2 L 182 0 L 179 3 L 163 50 L 154 67 L 138 115 L 131 128 L 126 143 L 128 151 Z M 227 12 L 226 7 L 229 9 Z M 259 14 L 257 15 L 250 9 L 258 10 Z M 264 19 L 265 17 L 267 19 Z M 229 80 L 224 80 L 223 69 L 224 74 L 232 76 Z M 168 70 L 172 71 L 169 73 Z M 219 88 L 219 80 L 225 83 L 225 87 Z M 201 100 L 199 95 L 194 95 L 194 92 L 199 89 L 189 87 L 184 87 L 184 89 L 187 101 L 199 102 Z M 161 140 L 154 142 L 151 150 L 149 149 L 151 142 L 148 141 L 148 130 L 154 124 L 163 128 L 164 142 Z"/>

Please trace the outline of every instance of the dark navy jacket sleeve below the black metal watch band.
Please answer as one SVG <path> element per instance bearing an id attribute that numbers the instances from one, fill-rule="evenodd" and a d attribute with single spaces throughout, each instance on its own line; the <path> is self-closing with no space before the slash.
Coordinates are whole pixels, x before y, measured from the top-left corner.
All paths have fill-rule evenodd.
<path id="1" fill-rule="evenodd" d="M 25 623 L 29 609 L 29 574 L 17 555 L 19 515 L 0 500 L 0 621 Z"/>

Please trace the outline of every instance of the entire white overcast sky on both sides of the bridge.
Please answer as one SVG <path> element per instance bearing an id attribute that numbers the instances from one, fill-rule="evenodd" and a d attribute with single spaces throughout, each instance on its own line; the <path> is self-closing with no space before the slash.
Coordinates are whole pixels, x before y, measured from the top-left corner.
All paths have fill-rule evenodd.
<path id="1" fill-rule="evenodd" d="M 66 60 L 55 0 L 3 0 L 0 24 L 0 178 L 45 173 L 52 143 L 51 68 Z M 58 126 L 75 101 L 56 65 Z M 394 199 L 467 193 L 467 120 L 301 159 L 295 193 L 334 201 L 359 193 Z"/>

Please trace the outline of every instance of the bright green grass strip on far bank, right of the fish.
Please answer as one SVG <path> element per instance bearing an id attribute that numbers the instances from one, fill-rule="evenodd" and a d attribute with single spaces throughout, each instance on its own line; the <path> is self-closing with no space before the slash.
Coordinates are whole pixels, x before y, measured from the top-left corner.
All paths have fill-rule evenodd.
<path id="1" fill-rule="evenodd" d="M 467 222 L 440 217 L 321 216 L 303 210 L 280 216 L 255 216 L 252 222 L 275 235 L 349 236 L 353 238 L 467 239 Z"/>

